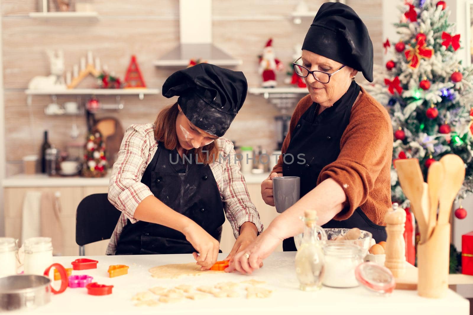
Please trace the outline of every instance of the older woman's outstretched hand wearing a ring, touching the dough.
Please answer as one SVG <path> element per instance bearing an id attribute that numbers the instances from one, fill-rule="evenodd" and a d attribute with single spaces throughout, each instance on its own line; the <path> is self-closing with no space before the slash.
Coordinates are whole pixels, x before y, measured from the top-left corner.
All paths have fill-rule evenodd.
<path id="1" fill-rule="evenodd" d="M 268 257 L 282 242 L 273 229 L 263 231 L 245 250 L 238 252 L 225 272 L 237 270 L 241 273 L 252 273 L 263 265 L 263 259 Z"/>

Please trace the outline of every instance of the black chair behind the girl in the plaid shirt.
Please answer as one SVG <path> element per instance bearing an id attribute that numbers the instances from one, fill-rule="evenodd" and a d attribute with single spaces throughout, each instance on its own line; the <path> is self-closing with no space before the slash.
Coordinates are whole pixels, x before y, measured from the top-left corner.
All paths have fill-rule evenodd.
<path id="1" fill-rule="evenodd" d="M 85 245 L 108 239 L 122 214 L 107 199 L 107 194 L 85 197 L 77 206 L 76 243 L 79 256 L 84 256 Z"/>

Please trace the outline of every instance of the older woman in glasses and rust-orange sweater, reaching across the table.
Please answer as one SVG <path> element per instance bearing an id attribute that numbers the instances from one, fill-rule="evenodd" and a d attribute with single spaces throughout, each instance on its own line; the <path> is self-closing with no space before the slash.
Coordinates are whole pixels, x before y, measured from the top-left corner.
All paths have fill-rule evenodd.
<path id="1" fill-rule="evenodd" d="M 272 179 L 298 176 L 301 198 L 238 253 L 227 271 L 251 273 L 281 241 L 285 251 L 296 250 L 292 236 L 302 232 L 300 217 L 307 209 L 317 211 L 324 228 L 357 227 L 377 241 L 386 238 L 393 130 L 383 106 L 354 81 L 358 71 L 373 81 L 368 30 L 350 7 L 324 3 L 300 59 L 302 64 L 294 62 L 294 68 L 309 95 L 299 101 L 282 145 L 283 155 L 294 159 L 281 156 L 261 191 L 264 201 L 274 205 Z"/>

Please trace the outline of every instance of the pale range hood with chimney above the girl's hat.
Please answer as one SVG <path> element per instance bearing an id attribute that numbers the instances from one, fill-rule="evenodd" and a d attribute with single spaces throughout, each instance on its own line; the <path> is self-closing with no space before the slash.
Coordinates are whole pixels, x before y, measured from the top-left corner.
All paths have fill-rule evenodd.
<path id="1" fill-rule="evenodd" d="M 221 67 L 242 64 L 212 43 L 212 0 L 179 0 L 179 36 L 180 44 L 155 60 L 155 66 L 185 67 L 191 59 Z"/>

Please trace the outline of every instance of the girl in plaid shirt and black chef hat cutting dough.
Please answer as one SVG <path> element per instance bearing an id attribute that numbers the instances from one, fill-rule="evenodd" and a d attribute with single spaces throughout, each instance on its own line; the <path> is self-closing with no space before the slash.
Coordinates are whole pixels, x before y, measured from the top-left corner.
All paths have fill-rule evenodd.
<path id="1" fill-rule="evenodd" d="M 228 259 L 263 230 L 233 144 L 221 138 L 246 92 L 242 72 L 205 63 L 167 78 L 163 95 L 177 102 L 123 137 L 108 190 L 122 215 L 107 254 L 193 253 L 208 269 L 217 261 L 224 214 L 236 238 Z"/>

